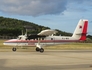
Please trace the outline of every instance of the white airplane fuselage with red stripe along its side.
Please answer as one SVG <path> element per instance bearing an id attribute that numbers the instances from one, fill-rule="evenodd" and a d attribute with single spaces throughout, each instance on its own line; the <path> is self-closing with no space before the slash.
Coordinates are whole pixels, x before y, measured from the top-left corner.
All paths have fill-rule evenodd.
<path id="1" fill-rule="evenodd" d="M 68 37 L 68 36 L 48 36 L 44 38 L 44 40 L 40 40 L 40 45 L 57 45 L 57 44 L 64 44 L 69 42 L 78 42 L 80 40 Z M 35 46 L 38 43 L 38 40 L 18 40 L 18 39 L 11 39 L 4 42 L 4 45 L 10 46 Z"/>

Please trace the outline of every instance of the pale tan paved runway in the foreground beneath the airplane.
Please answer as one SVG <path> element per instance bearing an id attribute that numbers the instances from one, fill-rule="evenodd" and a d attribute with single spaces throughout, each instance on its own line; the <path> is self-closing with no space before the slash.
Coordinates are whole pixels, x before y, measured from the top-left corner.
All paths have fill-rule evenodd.
<path id="1" fill-rule="evenodd" d="M 92 70 L 92 50 L 0 52 L 0 70 Z"/>

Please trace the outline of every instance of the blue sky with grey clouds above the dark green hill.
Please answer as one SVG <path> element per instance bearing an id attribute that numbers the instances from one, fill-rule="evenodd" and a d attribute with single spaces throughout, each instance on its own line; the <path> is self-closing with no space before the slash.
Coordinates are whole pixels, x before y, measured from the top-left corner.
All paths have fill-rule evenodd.
<path id="1" fill-rule="evenodd" d="M 0 0 L 0 16 L 70 33 L 80 19 L 87 19 L 92 35 L 92 0 Z"/>

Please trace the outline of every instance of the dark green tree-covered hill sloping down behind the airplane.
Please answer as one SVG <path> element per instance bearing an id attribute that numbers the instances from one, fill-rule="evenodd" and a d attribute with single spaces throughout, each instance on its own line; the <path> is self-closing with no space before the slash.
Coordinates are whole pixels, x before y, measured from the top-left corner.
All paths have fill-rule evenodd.
<path id="1" fill-rule="evenodd" d="M 0 36 L 18 36 L 21 35 L 22 30 L 25 33 L 25 29 L 28 29 L 29 34 L 37 34 L 42 30 L 50 29 L 49 27 L 41 26 L 33 22 L 0 17 Z M 57 35 L 71 36 L 71 33 L 64 31 L 58 31 Z"/>

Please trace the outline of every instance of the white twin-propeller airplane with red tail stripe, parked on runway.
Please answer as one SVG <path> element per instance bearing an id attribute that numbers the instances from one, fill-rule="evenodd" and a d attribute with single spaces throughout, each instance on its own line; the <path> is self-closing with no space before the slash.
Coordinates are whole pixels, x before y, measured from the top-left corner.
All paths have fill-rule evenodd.
<path id="1" fill-rule="evenodd" d="M 14 46 L 13 51 L 16 51 L 16 46 L 36 46 L 36 51 L 44 52 L 43 46 L 57 45 L 62 43 L 80 42 L 86 40 L 88 29 L 88 20 L 80 19 L 72 36 L 55 36 L 56 30 L 46 29 L 37 35 L 19 35 L 17 39 L 5 41 L 4 45 Z"/>

